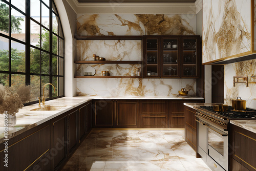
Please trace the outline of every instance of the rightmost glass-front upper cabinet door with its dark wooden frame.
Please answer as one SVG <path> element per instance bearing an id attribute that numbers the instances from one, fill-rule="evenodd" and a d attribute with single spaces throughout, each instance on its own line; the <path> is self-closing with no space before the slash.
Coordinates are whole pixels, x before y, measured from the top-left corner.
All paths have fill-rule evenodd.
<path id="1" fill-rule="evenodd" d="M 181 70 L 181 77 L 183 78 L 190 78 L 190 77 L 198 77 L 199 75 L 199 38 L 198 37 L 191 37 L 191 38 L 182 38 L 182 70 Z"/>

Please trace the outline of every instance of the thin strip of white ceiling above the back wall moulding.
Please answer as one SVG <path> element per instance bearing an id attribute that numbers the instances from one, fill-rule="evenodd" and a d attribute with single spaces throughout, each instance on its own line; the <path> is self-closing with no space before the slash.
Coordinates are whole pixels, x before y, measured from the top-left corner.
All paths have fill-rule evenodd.
<path id="1" fill-rule="evenodd" d="M 196 0 L 77 0 L 79 3 L 195 3 Z"/>

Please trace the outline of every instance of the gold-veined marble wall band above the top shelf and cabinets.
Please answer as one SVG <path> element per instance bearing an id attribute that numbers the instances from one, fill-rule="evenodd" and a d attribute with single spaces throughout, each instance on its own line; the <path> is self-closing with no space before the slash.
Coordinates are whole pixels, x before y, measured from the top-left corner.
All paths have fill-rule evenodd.
<path id="1" fill-rule="evenodd" d="M 196 35 L 196 14 L 79 14 L 77 35 Z"/>

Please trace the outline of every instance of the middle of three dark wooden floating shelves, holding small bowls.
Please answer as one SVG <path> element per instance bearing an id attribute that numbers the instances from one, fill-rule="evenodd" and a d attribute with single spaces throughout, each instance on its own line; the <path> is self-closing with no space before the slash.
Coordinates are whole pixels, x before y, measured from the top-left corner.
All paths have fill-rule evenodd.
<path id="1" fill-rule="evenodd" d="M 77 64 L 142 64 L 141 60 L 75 60 Z"/>

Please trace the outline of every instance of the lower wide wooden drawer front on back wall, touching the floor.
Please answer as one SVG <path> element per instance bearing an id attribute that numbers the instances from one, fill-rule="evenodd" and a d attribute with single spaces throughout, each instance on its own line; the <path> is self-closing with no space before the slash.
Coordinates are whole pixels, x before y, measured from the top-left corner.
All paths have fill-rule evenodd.
<path id="1" fill-rule="evenodd" d="M 168 115 L 140 115 L 140 127 L 148 128 L 167 128 Z"/>

